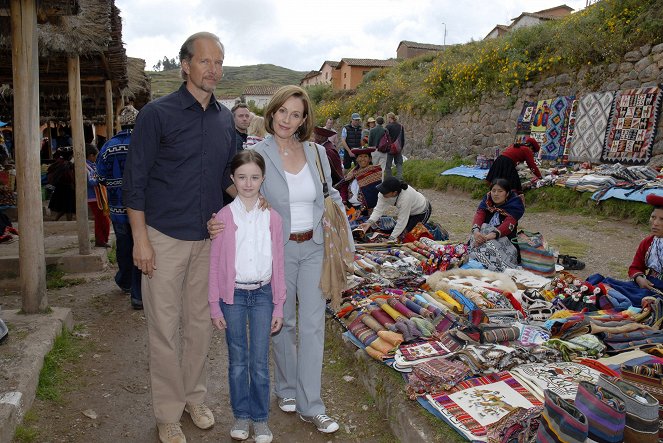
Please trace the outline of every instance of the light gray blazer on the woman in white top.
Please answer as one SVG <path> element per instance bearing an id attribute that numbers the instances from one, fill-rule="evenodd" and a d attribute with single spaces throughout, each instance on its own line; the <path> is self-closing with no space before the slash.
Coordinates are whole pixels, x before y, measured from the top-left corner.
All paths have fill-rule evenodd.
<path id="1" fill-rule="evenodd" d="M 320 153 L 320 161 L 322 170 L 327 180 L 327 188 L 329 195 L 334 202 L 345 213 L 345 206 L 339 192 L 331 185 L 331 168 L 325 148 L 312 142 L 304 142 L 304 154 L 306 155 L 306 163 L 313 175 L 313 183 L 315 183 L 316 197 L 313 203 L 313 241 L 317 244 L 322 244 L 322 212 L 324 210 L 324 195 L 322 192 L 322 182 L 320 181 L 320 173 L 318 172 L 318 165 L 316 163 L 317 156 L 313 150 L 315 146 Z M 290 198 L 288 192 L 288 182 L 285 178 L 285 171 L 283 170 L 283 163 L 279 155 L 279 147 L 273 137 L 269 137 L 260 143 L 256 144 L 253 149 L 260 153 L 265 159 L 265 181 L 262 184 L 261 192 L 265 196 L 269 204 L 279 213 L 283 219 L 283 238 L 287 243 L 290 241 Z M 354 246 L 352 239 L 352 232 L 348 225 L 348 233 L 350 236 L 350 244 Z"/>

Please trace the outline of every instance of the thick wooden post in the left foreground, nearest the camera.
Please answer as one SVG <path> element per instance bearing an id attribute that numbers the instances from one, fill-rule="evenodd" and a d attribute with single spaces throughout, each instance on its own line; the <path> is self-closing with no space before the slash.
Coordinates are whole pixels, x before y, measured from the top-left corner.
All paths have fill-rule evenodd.
<path id="1" fill-rule="evenodd" d="M 36 0 L 11 0 L 10 9 L 22 308 L 26 314 L 36 314 L 48 307 L 39 164 L 41 131 Z"/>

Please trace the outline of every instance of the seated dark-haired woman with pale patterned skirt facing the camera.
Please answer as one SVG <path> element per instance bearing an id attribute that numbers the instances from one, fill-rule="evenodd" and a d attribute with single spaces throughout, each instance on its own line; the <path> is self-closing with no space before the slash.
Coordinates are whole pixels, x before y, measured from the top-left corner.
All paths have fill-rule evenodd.
<path id="1" fill-rule="evenodd" d="M 525 213 L 523 200 L 511 190 L 508 180 L 493 180 L 472 221 L 470 258 L 491 271 L 515 268 L 519 251 L 511 242 L 518 231 L 518 220 Z"/>

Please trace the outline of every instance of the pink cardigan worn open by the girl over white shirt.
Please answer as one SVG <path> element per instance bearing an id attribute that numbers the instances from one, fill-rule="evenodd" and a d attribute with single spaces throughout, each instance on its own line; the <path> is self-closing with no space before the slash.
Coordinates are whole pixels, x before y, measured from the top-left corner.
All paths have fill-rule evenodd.
<path id="1" fill-rule="evenodd" d="M 212 249 L 209 260 L 209 301 L 210 316 L 221 318 L 223 313 L 219 306 L 219 299 L 225 303 L 233 304 L 235 296 L 235 231 L 237 225 L 233 220 L 230 206 L 224 206 L 215 219 L 225 224 L 225 229 L 212 240 Z M 285 303 L 285 265 L 284 242 L 281 216 L 273 209 L 269 209 L 269 230 L 272 238 L 272 297 L 274 312 L 272 317 L 283 317 L 283 303 Z"/>

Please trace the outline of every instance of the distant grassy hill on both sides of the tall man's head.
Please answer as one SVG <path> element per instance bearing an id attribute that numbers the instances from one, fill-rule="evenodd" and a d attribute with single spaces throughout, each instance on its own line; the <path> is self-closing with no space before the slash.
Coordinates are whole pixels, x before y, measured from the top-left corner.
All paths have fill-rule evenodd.
<path id="1" fill-rule="evenodd" d="M 179 69 L 147 73 L 152 78 L 152 97 L 169 94 L 180 87 Z M 306 72 L 293 71 L 275 65 L 224 66 L 223 79 L 216 88 L 217 97 L 239 96 L 247 86 L 282 86 L 295 84 Z"/>

